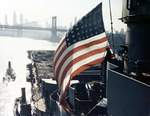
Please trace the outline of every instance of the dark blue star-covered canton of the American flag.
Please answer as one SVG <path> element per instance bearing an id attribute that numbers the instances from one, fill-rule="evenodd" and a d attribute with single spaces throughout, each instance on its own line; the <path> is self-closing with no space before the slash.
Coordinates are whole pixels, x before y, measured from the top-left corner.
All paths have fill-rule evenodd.
<path id="1" fill-rule="evenodd" d="M 78 41 L 88 39 L 94 35 L 104 32 L 101 10 L 93 11 L 84 16 L 73 28 L 69 31 L 66 38 L 67 45 L 72 45 Z M 68 44 L 69 42 L 69 44 Z"/>

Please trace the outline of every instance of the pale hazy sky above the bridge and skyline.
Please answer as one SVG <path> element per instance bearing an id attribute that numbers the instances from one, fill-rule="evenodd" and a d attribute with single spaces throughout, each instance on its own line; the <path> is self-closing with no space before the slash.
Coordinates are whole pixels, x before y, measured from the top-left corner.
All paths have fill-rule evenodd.
<path id="1" fill-rule="evenodd" d="M 0 23 L 4 24 L 7 14 L 8 23 L 12 24 L 13 13 L 18 16 L 23 14 L 28 21 L 37 21 L 44 25 L 51 24 L 51 17 L 57 16 L 58 26 L 69 27 L 77 20 L 92 10 L 97 4 L 103 2 L 103 20 L 106 30 L 110 30 L 109 0 L 1 0 Z M 114 30 L 125 28 L 118 18 L 122 13 L 122 0 L 111 0 Z"/>

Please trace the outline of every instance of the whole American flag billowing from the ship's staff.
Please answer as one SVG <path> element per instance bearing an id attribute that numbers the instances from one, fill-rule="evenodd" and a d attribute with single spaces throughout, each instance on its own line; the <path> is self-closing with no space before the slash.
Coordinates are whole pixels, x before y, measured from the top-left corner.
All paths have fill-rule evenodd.
<path id="1" fill-rule="evenodd" d="M 102 63 L 108 46 L 100 3 L 68 31 L 56 50 L 54 74 L 60 88 L 60 103 L 64 103 L 70 80 Z"/>

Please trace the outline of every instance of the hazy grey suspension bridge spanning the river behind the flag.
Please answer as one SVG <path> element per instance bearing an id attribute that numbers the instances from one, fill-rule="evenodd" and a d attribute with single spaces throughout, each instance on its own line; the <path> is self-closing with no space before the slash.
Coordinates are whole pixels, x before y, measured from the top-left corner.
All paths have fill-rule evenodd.
<path id="1" fill-rule="evenodd" d="M 49 27 L 0 24 L 0 36 L 29 37 L 52 42 L 58 42 L 66 31 L 66 28 L 57 26 L 56 16 L 52 17 L 52 24 Z"/>

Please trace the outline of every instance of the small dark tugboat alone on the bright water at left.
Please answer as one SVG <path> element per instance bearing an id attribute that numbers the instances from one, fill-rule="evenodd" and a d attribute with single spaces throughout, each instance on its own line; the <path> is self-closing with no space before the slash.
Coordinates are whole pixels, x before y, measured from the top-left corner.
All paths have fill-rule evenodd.
<path id="1" fill-rule="evenodd" d="M 11 61 L 8 62 L 8 68 L 6 69 L 5 77 L 3 77 L 3 82 L 7 81 L 15 81 L 16 74 L 14 72 L 14 69 L 11 66 Z"/>

